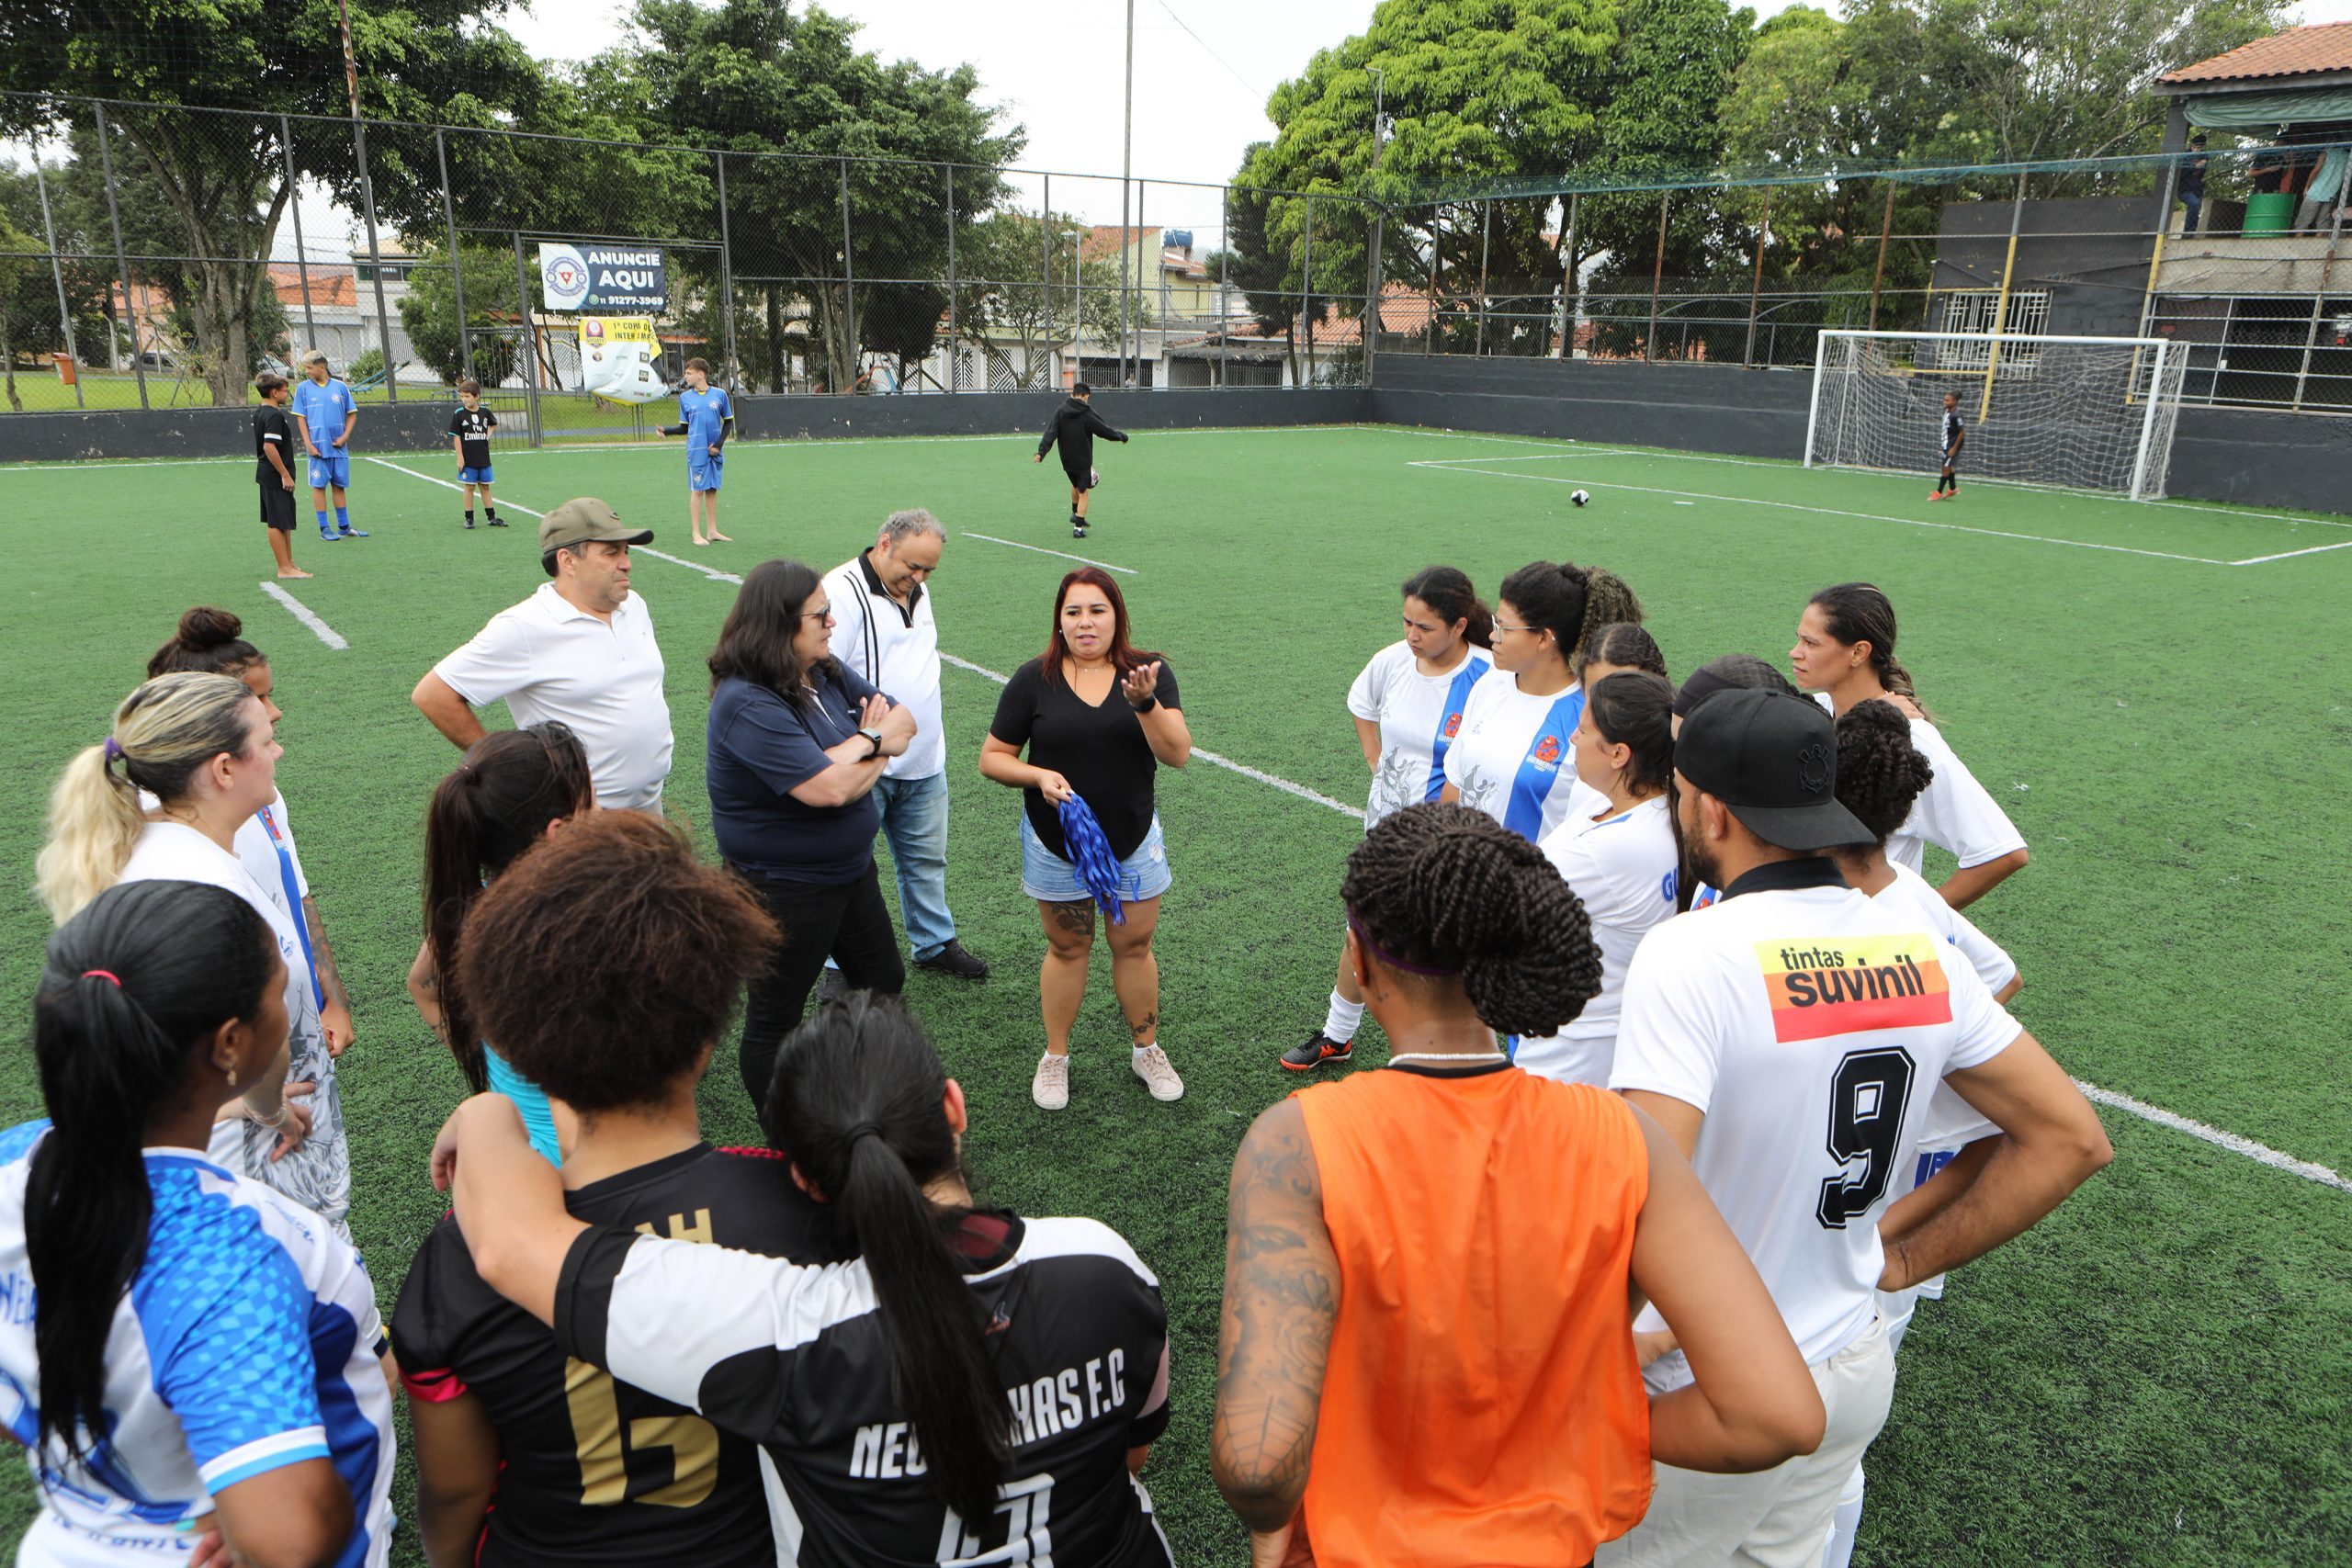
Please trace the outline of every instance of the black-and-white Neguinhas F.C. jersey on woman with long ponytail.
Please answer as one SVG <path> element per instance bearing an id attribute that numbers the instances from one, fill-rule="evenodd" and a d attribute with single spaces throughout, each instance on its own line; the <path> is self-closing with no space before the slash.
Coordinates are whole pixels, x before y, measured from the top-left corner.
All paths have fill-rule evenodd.
<path id="1" fill-rule="evenodd" d="M 795 1267 L 590 1229 L 564 1258 L 555 1335 L 764 1443 L 786 1563 L 1169 1568 L 1150 1493 L 1127 1472 L 1127 1450 L 1167 1427 L 1160 1281 L 1094 1220 L 983 1211 L 955 1241 L 1011 1408 L 990 1519 L 960 1519 L 924 1479 L 863 1260 Z"/>

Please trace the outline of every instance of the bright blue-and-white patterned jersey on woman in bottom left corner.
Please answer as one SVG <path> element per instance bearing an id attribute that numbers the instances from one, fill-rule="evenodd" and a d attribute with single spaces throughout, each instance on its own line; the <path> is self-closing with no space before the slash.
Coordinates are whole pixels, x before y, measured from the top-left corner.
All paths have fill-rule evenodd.
<path id="1" fill-rule="evenodd" d="M 24 1194 L 47 1121 L 0 1133 L 0 1420 L 40 1432 Z M 339 1568 L 390 1549 L 393 1399 L 367 1267 L 318 1215 L 193 1150 L 148 1150 L 153 1215 L 106 1349 L 108 1432 L 31 1453 L 42 1512 L 19 1568 L 179 1563 L 214 1493 L 301 1460 L 350 1488 Z"/>

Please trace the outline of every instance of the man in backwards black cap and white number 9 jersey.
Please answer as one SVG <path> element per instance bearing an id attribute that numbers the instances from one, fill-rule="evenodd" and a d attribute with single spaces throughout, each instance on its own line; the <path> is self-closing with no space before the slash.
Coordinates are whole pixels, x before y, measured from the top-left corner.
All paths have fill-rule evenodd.
<path id="1" fill-rule="evenodd" d="M 1691 1157 L 1813 1368 L 1828 1434 L 1755 1476 L 1658 1465 L 1649 1516 L 1595 1561 L 1816 1568 L 1893 1399 L 1875 1293 L 2025 1232 L 2112 1150 L 1976 971 L 1820 853 L 1870 839 L 1837 804 L 1828 712 L 1717 691 L 1682 724 L 1675 783 L 1691 870 L 1724 893 L 1642 938 L 1609 1086 Z M 1889 1206 L 1938 1079 L 2006 1138 L 1983 1168 Z M 1656 1314 L 1637 1321 L 1661 1328 Z M 1665 1392 L 1691 1375 L 1668 1349 L 1649 1380 Z"/>

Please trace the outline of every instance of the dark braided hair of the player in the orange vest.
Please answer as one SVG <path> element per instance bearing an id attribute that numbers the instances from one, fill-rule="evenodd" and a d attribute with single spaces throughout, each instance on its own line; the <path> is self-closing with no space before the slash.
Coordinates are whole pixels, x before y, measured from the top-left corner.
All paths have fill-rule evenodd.
<path id="1" fill-rule="evenodd" d="M 1374 957 L 1461 976 L 1479 1023 L 1503 1034 L 1557 1034 L 1602 992 L 1583 900 L 1484 811 L 1383 818 L 1348 856 L 1341 898 Z"/>

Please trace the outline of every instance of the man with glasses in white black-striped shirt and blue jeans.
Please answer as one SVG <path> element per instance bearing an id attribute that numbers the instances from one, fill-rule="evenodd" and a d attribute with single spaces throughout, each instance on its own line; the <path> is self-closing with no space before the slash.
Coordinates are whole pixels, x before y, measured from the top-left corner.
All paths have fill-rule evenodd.
<path id="1" fill-rule="evenodd" d="M 875 785 L 915 969 L 985 980 L 988 964 L 955 940 L 948 912 L 948 736 L 938 722 L 938 623 L 929 592 L 946 545 L 948 531 L 931 512 L 891 512 L 870 550 L 826 574 L 826 597 L 833 656 L 915 710 L 915 743 Z M 837 971 L 830 961 L 826 971 L 830 990 Z"/>

